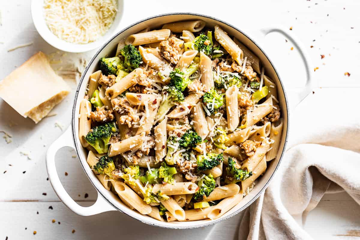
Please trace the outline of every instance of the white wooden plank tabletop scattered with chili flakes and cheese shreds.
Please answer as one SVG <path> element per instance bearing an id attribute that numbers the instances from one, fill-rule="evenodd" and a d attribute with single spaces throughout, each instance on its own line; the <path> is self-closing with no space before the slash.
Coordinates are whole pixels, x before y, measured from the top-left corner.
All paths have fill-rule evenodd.
<path id="1" fill-rule="evenodd" d="M 226 3 L 230 3 L 227 1 Z M 235 1 L 234 1 L 235 2 Z M 146 1 L 144 8 L 132 6 L 126 0 L 123 27 L 150 15 L 167 12 L 198 12 L 211 15 L 257 32 L 261 26 L 292 27 L 294 34 L 308 47 L 315 72 L 315 94 L 329 88 L 346 87 L 349 94 L 359 94 L 360 74 L 360 1 L 358 0 L 257 0 L 236 1 L 226 9 L 225 1 Z M 146 10 L 145 10 L 146 9 Z M 53 68 L 72 86 L 73 92 L 57 107 L 56 116 L 43 119 L 35 125 L 19 116 L 0 99 L 0 131 L 12 135 L 6 144 L 0 139 L 0 239 L 95 239 L 118 237 L 127 239 L 207 239 L 228 231 L 236 239 L 237 222 L 241 214 L 212 227 L 189 231 L 164 230 L 140 223 L 119 212 L 81 217 L 68 210 L 55 195 L 47 181 L 45 153 L 48 146 L 71 120 L 72 100 L 77 72 L 82 71 L 80 60 L 94 53 L 64 54 L 47 44 L 36 32 L 30 14 L 30 0 L 0 1 L 0 79 L 31 55 L 41 50 L 53 59 Z M 19 44 L 33 42 L 26 48 L 8 52 Z M 313 46 L 313 47 L 310 47 Z M 300 86 L 305 73 L 297 50 L 283 36 L 266 37 L 266 49 L 287 85 Z M 321 55 L 324 58 L 321 59 Z M 61 59 L 61 63 L 59 60 Z M 286 63 L 286 64 L 284 64 Z M 344 73 L 349 72 L 350 76 Z M 311 95 L 309 96 L 311 98 Z M 19 96 L 21 98 L 21 96 Z M 24 99 L 26 101 L 26 99 Z M 64 126 L 55 127 L 55 123 Z M 3 133 L 0 133 L 2 136 Z M 28 155 L 24 155 L 28 154 Z M 58 173 L 69 194 L 88 206 L 96 199 L 96 191 L 82 171 L 72 149 L 64 148 L 57 157 Z M 67 176 L 66 176 L 67 173 Z M 51 207 L 50 207 L 51 206 Z M 54 219 L 54 223 L 53 223 Z M 132 229 L 131 231 L 129 229 Z M 305 229 L 314 239 L 360 239 L 360 206 L 347 194 L 325 195 L 307 218 Z M 73 230 L 75 230 L 74 233 Z M 36 231 L 36 235 L 33 235 Z M 114 235 L 115 234 L 115 235 Z M 196 235 L 196 236 L 194 236 Z M 350 236 L 350 235 L 357 235 Z"/>

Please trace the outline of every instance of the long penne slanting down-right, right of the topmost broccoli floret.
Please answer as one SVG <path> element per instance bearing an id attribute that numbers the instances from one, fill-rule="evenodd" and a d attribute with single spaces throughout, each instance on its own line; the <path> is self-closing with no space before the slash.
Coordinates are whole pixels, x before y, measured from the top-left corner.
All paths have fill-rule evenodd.
<path id="1" fill-rule="evenodd" d="M 240 47 L 224 32 L 219 26 L 215 26 L 214 36 L 216 41 L 231 55 L 231 57 L 239 64 L 242 65 L 244 53 Z"/>

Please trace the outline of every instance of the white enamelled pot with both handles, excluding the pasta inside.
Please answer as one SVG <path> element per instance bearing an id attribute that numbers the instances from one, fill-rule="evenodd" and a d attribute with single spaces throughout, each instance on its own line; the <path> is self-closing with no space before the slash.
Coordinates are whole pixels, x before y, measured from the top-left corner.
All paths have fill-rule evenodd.
<path id="1" fill-rule="evenodd" d="M 204 220 L 198 220 L 198 221 L 190 221 L 190 222 L 161 222 L 154 218 L 151 218 L 149 216 L 144 216 L 134 210 L 129 209 L 125 204 L 122 203 L 122 201 L 118 198 L 117 195 L 113 194 L 111 191 L 107 191 L 98 181 L 94 173 L 91 171 L 89 165 L 86 162 L 87 157 L 87 150 L 84 149 L 79 141 L 78 137 L 78 114 L 79 114 L 79 106 L 80 101 L 84 97 L 85 89 L 87 82 L 89 80 L 89 76 L 91 73 L 95 72 L 98 69 L 98 62 L 99 59 L 104 56 L 112 56 L 114 55 L 116 51 L 116 47 L 118 42 L 121 39 L 124 39 L 125 37 L 131 35 L 132 33 L 136 33 L 146 27 L 151 28 L 161 28 L 161 26 L 164 23 L 169 22 L 176 22 L 176 21 L 185 21 L 185 20 L 193 20 L 193 19 L 201 19 L 205 22 L 207 22 L 207 25 L 209 27 L 214 27 L 216 24 L 221 26 L 224 31 L 228 32 L 230 36 L 235 36 L 238 40 L 243 42 L 246 46 L 248 46 L 249 49 L 253 51 L 261 60 L 262 65 L 266 69 L 267 76 L 269 76 L 273 81 L 276 83 L 276 87 L 278 89 L 278 100 L 280 104 L 280 108 L 282 110 L 282 116 L 284 120 L 284 129 L 282 133 L 282 139 L 280 143 L 279 153 L 276 157 L 276 159 L 269 162 L 269 166 L 265 172 L 265 174 L 257 180 L 257 184 L 249 193 L 247 196 L 244 197 L 244 199 L 236 205 L 234 208 L 229 210 L 227 213 L 225 213 L 222 217 L 210 220 L 210 219 L 204 219 Z M 290 94 L 292 98 L 294 99 L 292 101 L 292 105 L 296 105 L 299 103 L 307 94 L 309 94 L 311 90 L 311 64 L 309 62 L 309 57 L 304 51 L 304 47 L 287 31 L 282 28 L 277 27 L 270 27 L 270 28 L 264 28 L 261 30 L 262 38 L 265 37 L 266 34 L 270 32 L 279 32 L 282 33 L 289 39 L 290 41 L 293 41 L 293 44 L 295 47 L 297 47 L 300 51 L 300 54 L 302 56 L 302 60 L 306 66 L 307 69 L 307 81 L 306 85 L 296 93 Z M 197 227 L 205 227 L 209 226 L 221 221 L 224 221 L 225 219 L 228 219 L 235 214 L 239 213 L 240 211 L 247 208 L 253 201 L 255 201 L 260 194 L 265 191 L 266 187 L 269 185 L 271 178 L 276 172 L 276 169 L 279 167 L 279 164 L 281 162 L 281 158 L 283 156 L 285 145 L 287 142 L 288 132 L 289 132 L 289 103 L 287 96 L 285 94 L 285 90 L 283 87 L 283 83 L 280 81 L 280 77 L 278 72 L 276 72 L 276 69 L 274 65 L 272 64 L 269 56 L 266 55 L 266 53 L 261 49 L 261 47 L 258 45 L 257 41 L 261 41 L 261 37 L 258 37 L 258 39 L 254 40 L 251 37 L 249 37 L 248 33 L 245 33 L 238 28 L 232 26 L 231 24 L 225 23 L 223 21 L 220 21 L 218 19 L 208 17 L 201 14 L 194 14 L 194 13 L 171 13 L 171 14 L 163 14 L 163 15 L 157 15 L 154 17 L 150 17 L 147 19 L 144 19 L 140 22 L 134 23 L 131 26 L 125 28 L 124 30 L 118 32 L 115 36 L 112 37 L 111 40 L 109 40 L 106 44 L 104 44 L 99 51 L 93 56 L 93 58 L 90 60 L 89 64 L 85 68 L 84 73 L 82 74 L 81 80 L 79 82 L 79 85 L 77 87 L 76 96 L 74 100 L 73 105 L 73 111 L 72 111 L 72 124 L 71 127 L 67 129 L 67 131 L 59 137 L 48 149 L 47 155 L 46 155 L 46 166 L 48 169 L 49 179 L 50 182 L 57 193 L 58 197 L 63 201 L 63 203 L 70 208 L 73 212 L 82 215 L 82 216 L 89 216 L 94 215 L 102 212 L 107 212 L 111 210 L 118 210 L 120 212 L 123 212 L 130 217 L 133 217 L 135 219 L 138 219 L 141 222 L 147 223 L 149 225 L 153 226 L 159 226 L 159 227 L 166 227 L 166 228 L 176 228 L 176 229 L 189 229 L 189 228 L 197 228 Z M 70 146 L 72 148 L 76 149 L 76 153 L 80 159 L 80 164 L 84 168 L 84 171 L 86 175 L 89 177 L 89 180 L 94 185 L 95 189 L 98 191 L 98 199 L 96 200 L 96 203 L 90 207 L 81 207 L 78 205 L 71 197 L 68 195 L 68 193 L 65 191 L 64 187 L 62 186 L 59 177 L 57 175 L 56 167 L 55 167 L 55 154 L 56 152 L 64 147 L 64 146 Z"/>

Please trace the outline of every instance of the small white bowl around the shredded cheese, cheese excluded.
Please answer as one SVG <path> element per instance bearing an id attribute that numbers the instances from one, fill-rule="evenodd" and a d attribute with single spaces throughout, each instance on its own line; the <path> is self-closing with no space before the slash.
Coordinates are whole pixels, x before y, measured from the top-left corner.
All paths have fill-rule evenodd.
<path id="1" fill-rule="evenodd" d="M 123 7 L 124 7 L 123 0 L 118 0 L 117 1 L 118 12 L 116 13 L 114 22 L 109 28 L 109 30 L 98 40 L 94 42 L 90 42 L 88 44 L 73 44 L 70 42 L 66 42 L 62 39 L 59 39 L 57 36 L 55 36 L 46 25 L 44 19 L 43 0 L 31 1 L 31 15 L 37 32 L 39 32 L 40 36 L 51 46 L 66 52 L 82 53 L 102 46 L 114 35 L 114 33 L 117 31 L 117 26 L 119 25 L 123 15 Z"/>

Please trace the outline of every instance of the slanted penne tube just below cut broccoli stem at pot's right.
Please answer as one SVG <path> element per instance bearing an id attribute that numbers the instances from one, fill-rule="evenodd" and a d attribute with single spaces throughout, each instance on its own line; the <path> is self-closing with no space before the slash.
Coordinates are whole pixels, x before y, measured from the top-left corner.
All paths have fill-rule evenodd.
<path id="1" fill-rule="evenodd" d="M 241 122 L 240 128 L 251 127 L 258 121 L 260 121 L 267 114 L 271 113 L 273 110 L 273 99 L 268 98 L 264 103 L 260 104 L 260 106 L 256 107 L 252 112 L 248 112 Z"/>

